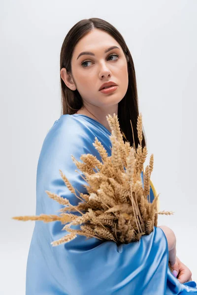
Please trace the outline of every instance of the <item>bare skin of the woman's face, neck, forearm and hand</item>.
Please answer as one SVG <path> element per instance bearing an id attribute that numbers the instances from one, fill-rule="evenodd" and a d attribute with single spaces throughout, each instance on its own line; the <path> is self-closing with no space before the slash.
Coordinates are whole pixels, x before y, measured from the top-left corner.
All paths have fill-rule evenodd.
<path id="1" fill-rule="evenodd" d="M 111 46 L 119 49 L 104 53 Z M 84 51 L 92 52 L 95 56 L 82 55 L 78 58 Z M 112 54 L 118 54 L 119 57 Z M 84 106 L 77 114 L 96 119 L 111 133 L 106 116 L 118 114 L 118 103 L 125 96 L 129 85 L 127 59 L 120 44 L 107 32 L 93 29 L 76 44 L 71 58 L 71 73 L 67 73 L 66 68 L 62 68 L 60 73 L 66 86 L 73 91 L 77 89 L 83 99 Z M 104 94 L 99 88 L 108 81 L 115 82 L 118 88 L 111 94 Z M 173 231 L 165 226 L 160 227 L 166 235 L 169 260 L 178 272 L 178 280 L 181 283 L 191 280 L 191 271 L 176 256 L 176 237 Z"/>

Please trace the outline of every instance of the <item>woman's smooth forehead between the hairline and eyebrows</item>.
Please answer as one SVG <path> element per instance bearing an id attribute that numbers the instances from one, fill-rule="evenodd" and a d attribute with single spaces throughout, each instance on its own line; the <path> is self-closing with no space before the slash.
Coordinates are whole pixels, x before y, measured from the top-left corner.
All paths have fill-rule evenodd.
<path id="1" fill-rule="evenodd" d="M 94 29 L 78 41 L 73 51 L 73 57 L 77 58 L 82 51 L 90 51 L 95 55 L 103 54 L 111 46 L 118 46 L 121 49 L 120 44 L 109 33 Z"/>

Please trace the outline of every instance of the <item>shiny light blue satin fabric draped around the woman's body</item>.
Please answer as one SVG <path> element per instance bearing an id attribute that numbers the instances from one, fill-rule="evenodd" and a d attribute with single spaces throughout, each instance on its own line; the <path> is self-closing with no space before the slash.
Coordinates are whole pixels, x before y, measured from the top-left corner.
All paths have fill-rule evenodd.
<path id="1" fill-rule="evenodd" d="M 36 215 L 59 214 L 63 208 L 45 190 L 80 200 L 65 185 L 59 169 L 80 193 L 87 182 L 79 175 L 71 154 L 80 162 L 91 153 L 101 161 L 93 146 L 95 137 L 111 155 L 110 132 L 85 115 L 62 115 L 44 139 L 36 175 Z M 77 170 L 79 173 L 75 172 Z M 151 202 L 154 199 L 150 190 Z M 76 212 L 76 215 L 80 213 Z M 177 295 L 197 294 L 194 281 L 181 284 L 168 267 L 167 240 L 162 229 L 139 241 L 117 245 L 95 237 L 77 236 L 66 244 L 51 242 L 69 234 L 59 221 L 35 221 L 26 273 L 26 295 Z M 79 229 L 79 226 L 72 226 Z"/>

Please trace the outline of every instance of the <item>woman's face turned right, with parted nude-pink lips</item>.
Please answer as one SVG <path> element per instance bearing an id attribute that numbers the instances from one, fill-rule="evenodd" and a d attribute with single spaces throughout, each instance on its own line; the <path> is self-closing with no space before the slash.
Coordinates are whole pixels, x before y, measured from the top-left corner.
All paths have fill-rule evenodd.
<path id="1" fill-rule="evenodd" d="M 105 53 L 112 46 L 118 48 Z M 85 51 L 92 54 L 80 55 Z M 127 59 L 123 50 L 111 35 L 99 29 L 92 30 L 76 44 L 71 72 L 73 83 L 66 81 L 66 85 L 72 90 L 77 89 L 87 105 L 107 109 L 117 105 L 128 89 Z M 109 81 L 116 83 L 117 89 L 110 94 L 100 92 L 100 86 Z"/>

